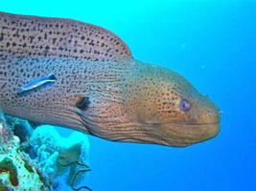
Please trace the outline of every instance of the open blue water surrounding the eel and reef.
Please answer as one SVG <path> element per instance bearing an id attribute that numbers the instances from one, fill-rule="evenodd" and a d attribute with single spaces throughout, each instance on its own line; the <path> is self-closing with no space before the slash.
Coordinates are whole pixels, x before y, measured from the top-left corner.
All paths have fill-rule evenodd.
<path id="1" fill-rule="evenodd" d="M 93 190 L 256 190 L 256 1 L 1 0 L 0 11 L 105 27 L 221 108 L 220 135 L 186 148 L 90 138 Z"/>

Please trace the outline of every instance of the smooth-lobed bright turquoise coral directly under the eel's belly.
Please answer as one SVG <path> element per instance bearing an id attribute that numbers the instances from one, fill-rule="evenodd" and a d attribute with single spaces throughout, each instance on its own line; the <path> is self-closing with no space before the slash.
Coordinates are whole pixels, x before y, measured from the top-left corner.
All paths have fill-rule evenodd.
<path id="1" fill-rule="evenodd" d="M 89 171 L 89 141 L 84 134 L 74 132 L 69 138 L 61 138 L 53 126 L 44 125 L 35 129 L 30 144 L 37 155 L 34 163 L 56 190 L 63 186 L 74 189 Z"/>

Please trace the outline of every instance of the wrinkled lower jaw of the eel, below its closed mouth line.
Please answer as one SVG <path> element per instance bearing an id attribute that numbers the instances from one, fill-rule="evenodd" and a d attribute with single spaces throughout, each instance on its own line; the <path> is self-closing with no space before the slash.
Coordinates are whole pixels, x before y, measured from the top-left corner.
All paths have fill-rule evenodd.
<path id="1" fill-rule="evenodd" d="M 140 123 L 135 129 L 136 131 L 133 129 L 124 132 L 119 129 L 115 134 L 98 134 L 97 137 L 112 141 L 185 147 L 216 137 L 219 133 L 219 123 Z"/>

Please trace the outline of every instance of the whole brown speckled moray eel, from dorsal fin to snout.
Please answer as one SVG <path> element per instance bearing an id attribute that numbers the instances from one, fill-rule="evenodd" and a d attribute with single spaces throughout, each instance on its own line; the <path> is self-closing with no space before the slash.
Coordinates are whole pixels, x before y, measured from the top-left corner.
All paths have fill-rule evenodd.
<path id="1" fill-rule="evenodd" d="M 55 74 L 51 86 L 20 88 Z M 70 19 L 0 13 L 0 108 L 114 141 L 187 146 L 219 111 L 183 76 L 134 59 L 112 32 Z"/>

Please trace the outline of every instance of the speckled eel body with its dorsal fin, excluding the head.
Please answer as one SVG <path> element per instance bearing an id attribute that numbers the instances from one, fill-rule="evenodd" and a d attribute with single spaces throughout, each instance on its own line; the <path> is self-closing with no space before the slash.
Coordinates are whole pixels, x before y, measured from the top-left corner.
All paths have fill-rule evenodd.
<path id="1" fill-rule="evenodd" d="M 124 85 L 124 60 L 131 59 L 117 36 L 68 19 L 0 15 L 0 108 L 5 113 L 86 131 L 76 108 L 82 97 L 93 98 L 90 110 L 96 116 L 111 111 L 109 104 Z M 54 88 L 17 94 L 24 84 L 51 73 L 57 76 Z"/>

